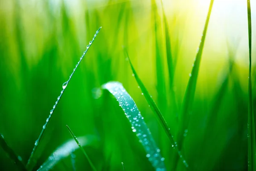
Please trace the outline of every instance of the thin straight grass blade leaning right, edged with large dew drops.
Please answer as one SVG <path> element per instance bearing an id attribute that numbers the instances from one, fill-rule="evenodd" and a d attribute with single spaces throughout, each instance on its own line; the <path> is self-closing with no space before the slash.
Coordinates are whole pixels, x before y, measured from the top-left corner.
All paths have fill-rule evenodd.
<path id="1" fill-rule="evenodd" d="M 76 64 L 76 68 L 77 68 L 78 65 L 80 64 L 81 60 L 84 58 L 84 55 L 86 54 L 86 52 L 87 52 L 88 49 L 90 48 L 91 44 L 93 43 L 94 39 L 96 38 L 96 36 L 97 36 L 97 34 L 99 33 L 99 30 L 100 30 L 101 28 L 102 28 L 102 27 L 100 27 L 100 28 L 96 31 L 96 34 L 94 35 L 93 40 L 90 41 L 90 42 L 89 42 L 89 45 L 86 46 L 86 50 L 83 52 L 83 55 L 80 57 L 80 61 Z M 57 101 L 55 101 L 55 105 L 52 107 L 52 110 L 50 110 L 50 115 L 49 115 L 49 117 L 47 118 L 47 121 L 46 121 L 45 125 L 43 126 L 43 129 L 42 129 L 42 131 L 41 131 L 41 133 L 40 133 L 38 139 L 37 139 L 36 142 L 35 142 L 35 146 L 34 146 L 34 148 L 33 148 L 33 150 L 32 150 L 32 153 L 31 153 L 31 155 L 30 155 L 30 157 L 29 157 L 29 160 L 28 160 L 27 165 L 30 164 L 31 159 L 34 157 L 35 150 L 37 149 L 38 143 L 40 142 L 40 140 L 41 140 L 41 138 L 42 138 L 42 136 L 43 136 L 43 134 L 44 134 L 45 128 L 46 128 L 47 125 L 49 124 L 49 120 L 50 120 L 51 117 L 52 117 L 52 113 L 54 112 L 54 110 L 55 110 L 55 108 L 56 108 L 56 106 L 57 106 L 57 104 L 58 104 L 58 101 L 61 99 L 61 96 L 62 96 L 62 94 L 64 93 L 64 90 L 66 89 L 67 84 L 69 83 L 69 81 L 70 81 L 70 79 L 72 78 L 74 72 L 76 71 L 76 68 L 73 69 L 73 72 L 71 73 L 71 75 L 70 75 L 68 81 L 66 81 L 66 82 L 64 82 L 64 83 L 62 84 L 63 90 L 61 90 L 61 95 L 58 96 Z"/>

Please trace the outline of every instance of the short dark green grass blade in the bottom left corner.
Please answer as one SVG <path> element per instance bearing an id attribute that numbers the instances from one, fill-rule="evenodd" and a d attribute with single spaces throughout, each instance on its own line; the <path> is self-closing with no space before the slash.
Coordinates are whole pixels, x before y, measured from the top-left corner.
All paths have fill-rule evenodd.
<path id="1" fill-rule="evenodd" d="M 25 165 L 20 161 L 20 159 L 17 157 L 15 152 L 12 150 L 12 148 L 9 147 L 9 145 L 6 143 L 1 133 L 0 133 L 0 146 L 3 148 L 6 154 L 9 155 L 9 157 L 17 165 L 17 168 L 20 171 L 26 171 Z"/>

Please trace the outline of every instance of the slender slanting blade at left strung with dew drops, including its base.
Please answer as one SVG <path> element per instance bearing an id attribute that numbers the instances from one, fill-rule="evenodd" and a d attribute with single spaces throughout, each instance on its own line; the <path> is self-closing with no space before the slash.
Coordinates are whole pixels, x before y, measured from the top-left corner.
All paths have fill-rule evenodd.
<path id="1" fill-rule="evenodd" d="M 73 69 L 73 72 L 71 73 L 69 79 L 68 79 L 66 82 L 63 83 L 63 85 L 62 85 L 63 90 L 61 90 L 60 96 L 58 96 L 57 101 L 56 101 L 55 104 L 53 105 L 52 110 L 50 110 L 50 115 L 49 115 L 49 117 L 47 118 L 46 123 L 44 124 L 43 129 L 42 129 L 42 131 L 41 131 L 41 133 L 40 133 L 38 139 L 35 141 L 35 146 L 34 146 L 34 148 L 33 148 L 33 150 L 32 150 L 32 153 L 31 153 L 31 155 L 30 155 L 30 157 L 29 157 L 29 160 L 28 160 L 28 162 L 27 162 L 27 164 L 26 164 L 27 170 L 31 171 L 31 170 L 34 168 L 35 163 L 36 163 L 36 159 L 34 158 L 35 151 L 36 151 L 36 149 L 38 148 L 38 145 L 39 145 L 39 143 L 40 143 L 40 141 L 41 141 L 41 139 L 42 139 L 42 137 L 43 137 L 43 135 L 44 135 L 45 129 L 47 128 L 47 125 L 49 124 L 50 119 L 52 118 L 52 113 L 55 111 L 55 108 L 56 108 L 56 106 L 58 105 L 59 100 L 61 99 L 61 97 L 62 97 L 64 91 L 66 90 L 67 84 L 69 83 L 69 81 L 70 81 L 70 79 L 72 78 L 73 74 L 75 73 L 77 67 L 79 66 L 81 60 L 84 58 L 84 55 L 87 53 L 88 49 L 89 49 L 90 46 L 92 45 L 94 39 L 96 38 L 96 36 L 97 36 L 97 34 L 99 33 L 99 31 L 100 31 L 101 28 L 102 28 L 102 27 L 100 27 L 100 28 L 96 31 L 96 34 L 94 35 L 93 40 L 90 41 L 89 44 L 86 46 L 86 50 L 84 51 L 83 55 L 80 57 L 80 60 L 79 60 L 78 63 L 76 64 L 76 67 Z"/>

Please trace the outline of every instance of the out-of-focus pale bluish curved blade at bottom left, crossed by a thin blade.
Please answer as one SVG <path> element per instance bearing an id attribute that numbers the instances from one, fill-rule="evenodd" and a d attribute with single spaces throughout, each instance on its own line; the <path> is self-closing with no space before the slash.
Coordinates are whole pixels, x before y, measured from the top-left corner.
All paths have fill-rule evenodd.
<path id="1" fill-rule="evenodd" d="M 93 142 L 93 139 L 96 139 L 96 136 L 81 136 L 78 137 L 81 146 L 89 145 Z M 38 169 L 38 171 L 49 171 L 51 170 L 61 159 L 64 159 L 70 155 L 74 151 L 76 151 L 79 146 L 73 139 L 68 140 L 63 145 L 56 148 L 56 150 L 48 157 L 47 161 L 44 162 L 43 165 Z"/>

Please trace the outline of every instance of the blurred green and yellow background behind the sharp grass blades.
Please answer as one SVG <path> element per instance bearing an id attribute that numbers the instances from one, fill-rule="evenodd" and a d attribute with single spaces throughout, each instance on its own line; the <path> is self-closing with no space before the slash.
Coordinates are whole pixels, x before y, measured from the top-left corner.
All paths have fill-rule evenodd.
<path id="1" fill-rule="evenodd" d="M 153 1 L 152 1 L 153 2 Z M 209 0 L 163 0 L 170 49 L 165 48 L 163 11 L 156 0 L 159 32 L 150 0 L 0 0 L 0 133 L 27 162 L 61 85 L 68 80 L 96 30 L 102 30 L 71 79 L 39 145 L 35 170 L 61 144 L 76 136 L 96 135 L 85 150 L 104 171 L 154 170 L 118 102 L 95 88 L 120 81 L 136 102 L 171 170 L 176 152 L 132 77 L 122 46 L 163 113 L 171 132 L 178 115 L 206 20 Z M 256 107 L 256 3 L 252 10 L 253 106 Z M 215 0 L 209 20 L 195 99 L 182 153 L 191 170 L 247 170 L 248 32 L 243 0 Z M 155 34 L 160 42 L 156 55 Z M 170 96 L 166 51 L 172 52 Z M 164 86 L 157 87 L 156 58 Z M 174 98 L 175 97 L 175 100 Z M 175 106 L 173 105 L 175 101 Z M 254 110 L 254 115 L 255 115 Z M 176 137 L 174 137 L 176 138 Z M 81 154 L 76 170 L 90 170 Z M 177 170 L 184 170 L 180 163 Z M 0 170 L 17 170 L 0 148 Z M 70 157 L 53 170 L 72 170 Z"/>

